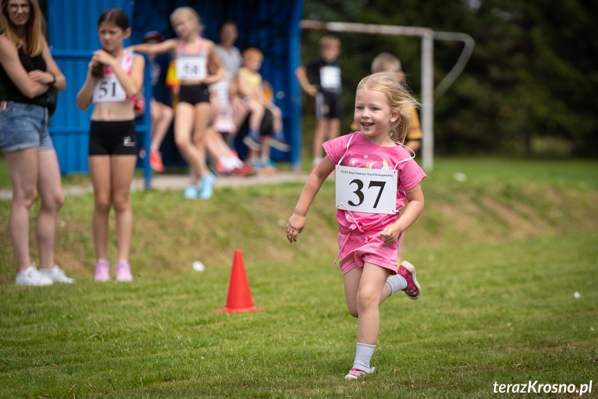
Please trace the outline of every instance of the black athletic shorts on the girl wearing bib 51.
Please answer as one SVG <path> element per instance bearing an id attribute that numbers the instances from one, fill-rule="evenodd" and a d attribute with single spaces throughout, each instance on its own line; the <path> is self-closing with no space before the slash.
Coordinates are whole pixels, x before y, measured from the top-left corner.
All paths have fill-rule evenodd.
<path id="1" fill-rule="evenodd" d="M 137 155 L 135 121 L 91 121 L 89 155 Z"/>

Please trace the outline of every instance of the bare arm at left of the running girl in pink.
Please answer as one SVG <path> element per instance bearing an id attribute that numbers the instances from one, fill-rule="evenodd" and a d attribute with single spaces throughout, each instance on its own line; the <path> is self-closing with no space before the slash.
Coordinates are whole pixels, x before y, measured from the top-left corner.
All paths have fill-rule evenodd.
<path id="1" fill-rule="evenodd" d="M 290 243 L 297 241 L 297 236 L 303 231 L 307 211 L 311 203 L 313 203 L 315 194 L 319 192 L 320 187 L 324 184 L 324 180 L 330 176 L 333 170 L 334 164 L 328 157 L 324 157 L 322 162 L 317 165 L 307 179 L 301 196 L 299 196 L 299 201 L 297 201 L 297 206 L 295 206 L 294 213 L 287 223 L 287 239 Z"/>

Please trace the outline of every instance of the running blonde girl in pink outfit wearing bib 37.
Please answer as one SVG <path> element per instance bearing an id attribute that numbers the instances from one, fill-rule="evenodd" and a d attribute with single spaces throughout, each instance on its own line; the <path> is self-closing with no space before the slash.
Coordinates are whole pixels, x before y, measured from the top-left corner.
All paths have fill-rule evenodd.
<path id="1" fill-rule="evenodd" d="M 397 268 L 398 240 L 423 211 L 419 182 L 425 173 L 403 146 L 409 110 L 416 105 L 396 75 L 363 78 L 355 94 L 355 123 L 361 131 L 324 143 L 326 157 L 309 176 L 287 223 L 292 243 L 324 180 L 336 171 L 337 260 L 346 306 L 358 318 L 357 350 L 347 379 L 374 371 L 369 362 L 380 330 L 378 306 L 397 291 L 410 299 L 420 295 L 414 266 L 403 261 Z"/>

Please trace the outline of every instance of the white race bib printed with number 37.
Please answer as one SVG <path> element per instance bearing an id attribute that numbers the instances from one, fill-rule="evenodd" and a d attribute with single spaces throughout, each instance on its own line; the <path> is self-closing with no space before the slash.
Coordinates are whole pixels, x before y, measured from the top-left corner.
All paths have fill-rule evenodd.
<path id="1" fill-rule="evenodd" d="M 336 165 L 337 209 L 351 212 L 396 214 L 397 171 Z M 341 205 L 344 204 L 343 205 Z"/>

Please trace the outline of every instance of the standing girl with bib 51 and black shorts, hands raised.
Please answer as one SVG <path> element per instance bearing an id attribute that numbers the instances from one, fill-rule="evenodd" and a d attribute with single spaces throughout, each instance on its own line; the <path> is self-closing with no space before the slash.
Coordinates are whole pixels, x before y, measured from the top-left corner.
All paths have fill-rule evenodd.
<path id="1" fill-rule="evenodd" d="M 94 186 L 94 245 L 96 281 L 110 280 L 107 259 L 110 207 L 116 216 L 116 280 L 132 281 L 129 266 L 132 212 L 130 187 L 137 162 L 135 96 L 143 85 L 146 61 L 125 52 L 131 35 L 125 12 L 105 10 L 98 19 L 102 49 L 94 51 L 87 66 L 87 78 L 77 94 L 77 106 L 86 110 L 94 103 L 89 128 L 89 173 Z"/>

